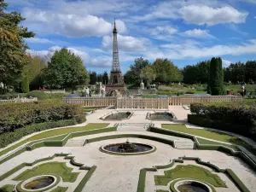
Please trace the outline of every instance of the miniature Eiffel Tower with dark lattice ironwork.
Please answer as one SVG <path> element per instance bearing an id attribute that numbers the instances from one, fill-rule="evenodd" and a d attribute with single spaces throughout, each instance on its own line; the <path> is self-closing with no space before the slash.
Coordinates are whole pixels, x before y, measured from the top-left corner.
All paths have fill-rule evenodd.
<path id="1" fill-rule="evenodd" d="M 124 77 L 121 73 L 119 65 L 119 47 L 117 40 L 117 29 L 115 20 L 113 23 L 113 61 L 110 71 L 110 78 L 106 86 L 107 96 L 116 96 L 118 93 L 122 96 L 127 95 L 128 91 L 124 82 Z"/>

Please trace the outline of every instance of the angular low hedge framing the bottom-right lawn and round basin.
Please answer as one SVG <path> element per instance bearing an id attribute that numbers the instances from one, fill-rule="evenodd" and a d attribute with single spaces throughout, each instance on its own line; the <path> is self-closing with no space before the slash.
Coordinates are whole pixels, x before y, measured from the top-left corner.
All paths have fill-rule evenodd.
<path id="1" fill-rule="evenodd" d="M 241 182 L 240 178 L 236 176 L 235 172 L 231 169 L 220 169 L 218 166 L 213 165 L 210 162 L 206 162 L 201 160 L 199 157 L 179 157 L 178 159 L 172 159 L 171 163 L 164 165 L 164 166 L 154 166 L 153 168 L 143 168 L 140 172 L 139 176 L 139 183 L 137 187 L 137 192 L 144 192 L 145 191 L 145 180 L 146 180 L 146 172 L 157 172 L 158 169 L 166 169 L 171 168 L 175 162 L 183 163 L 184 160 L 195 160 L 195 162 L 202 166 L 208 166 L 215 172 L 222 172 L 227 177 L 230 177 L 230 180 L 236 184 L 236 186 L 241 189 L 241 192 L 250 192 L 249 189 L 245 186 L 244 183 Z M 143 171 L 144 170 L 144 171 Z M 143 172 L 142 172 L 143 171 Z M 140 183 L 142 182 L 142 183 Z"/>

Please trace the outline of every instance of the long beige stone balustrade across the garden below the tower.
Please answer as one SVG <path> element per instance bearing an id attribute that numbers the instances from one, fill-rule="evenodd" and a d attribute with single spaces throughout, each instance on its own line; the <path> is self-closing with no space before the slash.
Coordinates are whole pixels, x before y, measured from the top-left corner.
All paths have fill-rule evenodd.
<path id="1" fill-rule="evenodd" d="M 230 102 L 240 100 L 240 96 L 168 96 L 159 98 L 129 97 L 64 97 L 62 102 L 79 104 L 85 107 L 137 108 L 137 109 L 168 109 L 170 105 L 189 105 L 195 102 Z"/>

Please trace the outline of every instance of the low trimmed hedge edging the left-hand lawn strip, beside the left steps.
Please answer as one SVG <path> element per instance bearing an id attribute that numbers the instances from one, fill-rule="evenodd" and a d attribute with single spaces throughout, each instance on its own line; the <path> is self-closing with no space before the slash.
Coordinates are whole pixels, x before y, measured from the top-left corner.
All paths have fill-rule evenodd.
<path id="1" fill-rule="evenodd" d="M 63 147 L 67 143 L 67 140 L 70 138 L 92 135 L 92 134 L 97 134 L 101 132 L 116 131 L 116 129 L 117 129 L 116 127 L 110 127 L 110 128 L 102 128 L 102 129 L 91 130 L 91 131 L 76 131 L 76 132 L 68 133 L 67 137 L 63 138 L 62 140 L 48 141 L 47 138 L 45 138 L 43 141 L 38 141 L 38 143 L 32 142 L 33 144 L 31 146 L 29 146 L 29 143 L 28 143 L 26 146 L 17 149 L 12 154 L 7 155 L 2 160 L 0 160 L 0 164 L 2 164 L 7 160 L 12 159 L 13 157 L 19 154 L 22 154 L 25 151 L 31 151 L 35 148 L 41 148 L 41 147 Z"/>

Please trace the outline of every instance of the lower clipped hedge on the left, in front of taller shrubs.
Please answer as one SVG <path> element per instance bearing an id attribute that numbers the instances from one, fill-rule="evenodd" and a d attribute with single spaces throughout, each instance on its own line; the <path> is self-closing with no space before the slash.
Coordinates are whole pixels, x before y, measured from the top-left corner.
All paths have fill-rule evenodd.
<path id="1" fill-rule="evenodd" d="M 75 125 L 77 121 L 75 119 L 50 121 L 41 124 L 28 125 L 22 129 L 17 129 L 12 132 L 4 132 L 0 135 L 0 148 L 8 146 L 10 143 L 14 143 L 20 140 L 21 137 L 25 137 L 34 132 L 45 131 L 55 127 Z"/>

